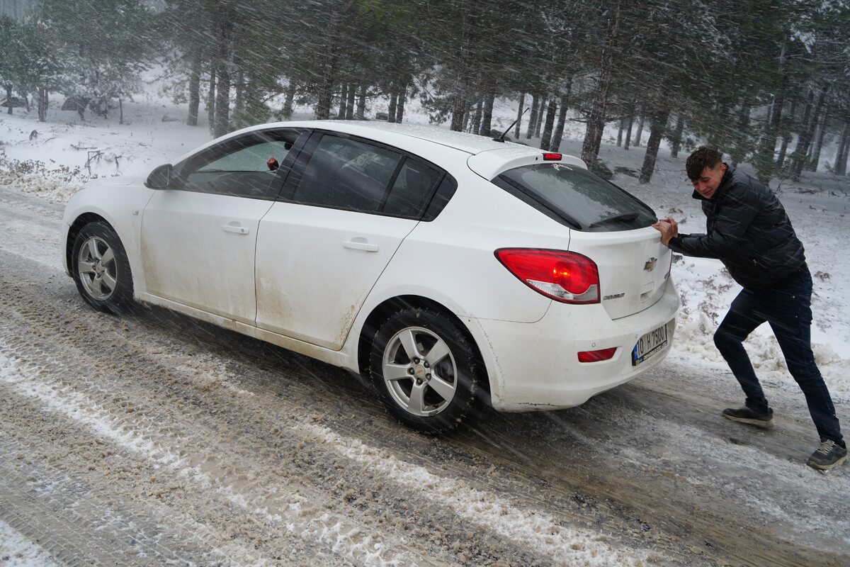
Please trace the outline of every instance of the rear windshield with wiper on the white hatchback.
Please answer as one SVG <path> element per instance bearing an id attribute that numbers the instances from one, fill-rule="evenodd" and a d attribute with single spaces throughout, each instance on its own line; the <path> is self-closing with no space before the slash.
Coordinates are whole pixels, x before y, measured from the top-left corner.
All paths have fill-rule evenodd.
<path id="1" fill-rule="evenodd" d="M 575 230 L 613 232 L 655 223 L 655 212 L 615 184 L 564 163 L 515 167 L 493 183 Z"/>

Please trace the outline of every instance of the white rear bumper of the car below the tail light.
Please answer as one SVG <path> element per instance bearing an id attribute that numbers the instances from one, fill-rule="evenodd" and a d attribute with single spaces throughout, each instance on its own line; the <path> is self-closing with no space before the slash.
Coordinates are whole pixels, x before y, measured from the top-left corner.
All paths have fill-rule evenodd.
<path id="1" fill-rule="evenodd" d="M 477 320 L 490 351 L 493 406 L 500 411 L 573 407 L 640 376 L 670 351 L 678 308 L 676 287 L 668 280 L 664 294 L 649 309 L 616 320 L 600 304 L 563 303 L 553 303 L 535 323 Z M 666 346 L 632 366 L 638 338 L 662 325 L 667 326 Z M 580 351 L 612 347 L 616 352 L 610 360 L 578 360 Z"/>

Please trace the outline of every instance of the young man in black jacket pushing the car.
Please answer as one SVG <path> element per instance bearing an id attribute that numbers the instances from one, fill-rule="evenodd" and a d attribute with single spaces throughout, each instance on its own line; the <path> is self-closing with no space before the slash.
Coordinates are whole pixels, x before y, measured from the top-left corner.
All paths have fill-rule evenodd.
<path id="1" fill-rule="evenodd" d="M 744 339 L 765 321 L 774 331 L 788 371 L 806 396 L 808 411 L 820 435 L 820 446 L 808 459 L 813 468 L 828 469 L 847 459 L 847 445 L 811 344 L 812 276 L 802 242 L 785 208 L 764 184 L 723 163 L 717 148 L 701 146 L 686 163 L 694 199 L 706 214 L 706 234 L 680 235 L 672 218 L 653 226 L 673 252 L 717 258 L 743 290 L 714 334 L 746 395 L 740 409 L 723 417 L 761 428 L 774 425 L 774 411 L 758 383 Z"/>

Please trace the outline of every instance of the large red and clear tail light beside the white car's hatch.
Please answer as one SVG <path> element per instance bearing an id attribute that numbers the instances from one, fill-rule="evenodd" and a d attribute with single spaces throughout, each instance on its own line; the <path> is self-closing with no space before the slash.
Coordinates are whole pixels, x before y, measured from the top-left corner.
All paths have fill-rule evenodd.
<path id="1" fill-rule="evenodd" d="M 575 252 L 500 248 L 499 259 L 526 286 L 563 303 L 599 303 L 599 270 Z"/>

